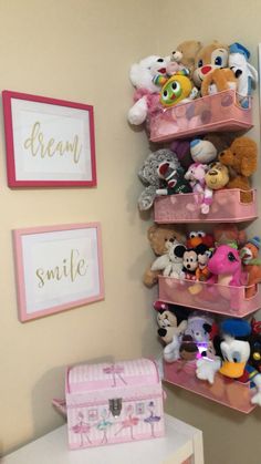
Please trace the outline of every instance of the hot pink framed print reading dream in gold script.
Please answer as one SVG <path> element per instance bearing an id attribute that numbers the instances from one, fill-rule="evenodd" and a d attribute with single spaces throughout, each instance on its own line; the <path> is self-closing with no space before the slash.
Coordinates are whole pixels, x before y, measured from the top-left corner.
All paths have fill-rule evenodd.
<path id="1" fill-rule="evenodd" d="M 9 187 L 96 186 L 93 106 L 2 92 Z"/>

